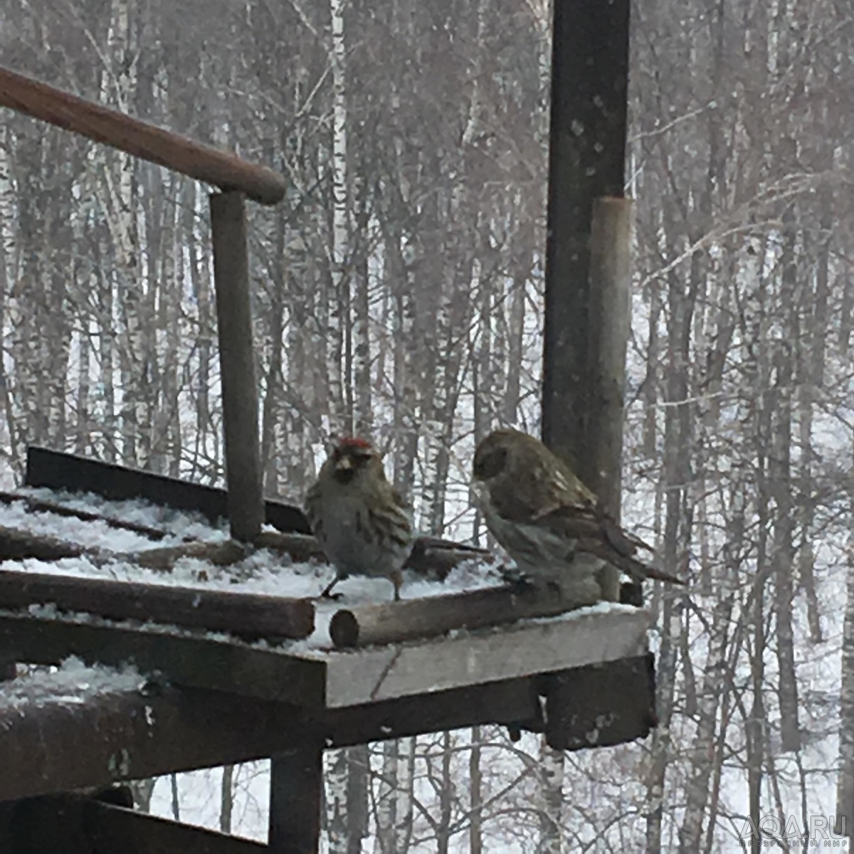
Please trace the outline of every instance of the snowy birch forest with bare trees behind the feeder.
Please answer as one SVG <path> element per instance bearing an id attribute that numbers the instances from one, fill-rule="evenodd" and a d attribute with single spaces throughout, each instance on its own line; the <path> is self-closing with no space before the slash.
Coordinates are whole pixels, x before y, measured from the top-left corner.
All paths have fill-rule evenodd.
<path id="1" fill-rule="evenodd" d="M 421 529 L 482 535 L 471 452 L 539 430 L 548 0 L 5 0 L 0 61 L 290 179 L 250 206 L 265 488 L 370 434 Z M 624 518 L 661 726 L 565 758 L 492 728 L 329 757 L 330 851 L 739 851 L 751 807 L 854 824 L 854 15 L 632 9 Z M 0 122 L 0 453 L 221 483 L 207 190 Z M 846 605 L 847 603 L 847 605 Z M 368 762 L 370 760 L 370 762 Z M 370 769 L 368 769 L 368 765 Z M 263 838 L 266 764 L 138 787 Z M 839 785 L 839 805 L 837 787 Z"/>

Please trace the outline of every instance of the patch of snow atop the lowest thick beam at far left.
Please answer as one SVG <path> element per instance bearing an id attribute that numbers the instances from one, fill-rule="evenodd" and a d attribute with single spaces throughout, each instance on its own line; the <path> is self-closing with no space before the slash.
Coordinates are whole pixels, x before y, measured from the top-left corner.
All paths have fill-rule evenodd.
<path id="1" fill-rule="evenodd" d="M 38 669 L 0 682 L 0 713 L 36 706 L 80 705 L 96 696 L 138 691 L 145 684 L 135 667 L 88 666 L 66 658 L 59 667 Z"/>

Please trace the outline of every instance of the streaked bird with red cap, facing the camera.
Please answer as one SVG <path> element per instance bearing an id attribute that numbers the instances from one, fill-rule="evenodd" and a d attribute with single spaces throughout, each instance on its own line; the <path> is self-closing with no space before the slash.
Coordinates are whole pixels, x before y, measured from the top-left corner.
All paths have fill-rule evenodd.
<path id="1" fill-rule="evenodd" d="M 383 459 L 364 439 L 342 439 L 321 466 L 306 494 L 308 524 L 336 576 L 380 576 L 401 598 L 401 569 L 412 551 L 412 522 L 400 494 L 389 483 Z"/>

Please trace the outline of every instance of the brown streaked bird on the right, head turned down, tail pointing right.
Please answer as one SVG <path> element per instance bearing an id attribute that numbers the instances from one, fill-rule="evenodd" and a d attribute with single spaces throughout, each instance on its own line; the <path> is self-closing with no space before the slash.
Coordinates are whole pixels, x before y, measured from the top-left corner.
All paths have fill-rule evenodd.
<path id="1" fill-rule="evenodd" d="M 473 475 L 487 527 L 531 582 L 557 584 L 576 605 L 618 600 L 617 574 L 684 582 L 642 563 L 652 548 L 626 533 L 570 466 L 520 430 L 494 430 L 477 446 Z"/>

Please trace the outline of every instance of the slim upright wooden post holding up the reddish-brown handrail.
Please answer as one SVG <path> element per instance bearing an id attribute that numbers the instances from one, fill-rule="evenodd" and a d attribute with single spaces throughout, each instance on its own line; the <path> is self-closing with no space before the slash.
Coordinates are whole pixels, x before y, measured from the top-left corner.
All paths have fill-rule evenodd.
<path id="1" fill-rule="evenodd" d="M 237 191 L 213 193 L 210 209 L 228 518 L 231 536 L 252 542 L 261 532 L 264 500 L 249 300 L 246 201 Z"/>

